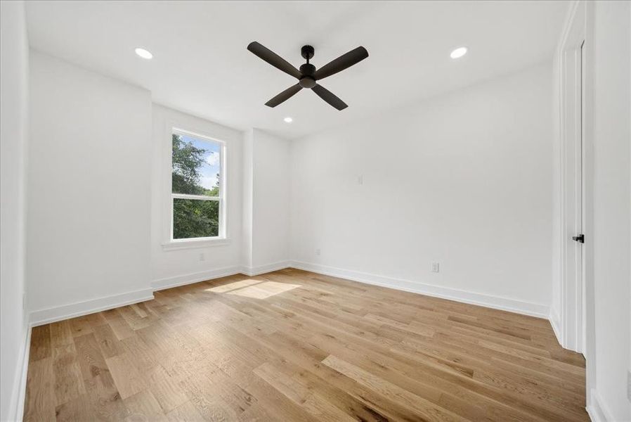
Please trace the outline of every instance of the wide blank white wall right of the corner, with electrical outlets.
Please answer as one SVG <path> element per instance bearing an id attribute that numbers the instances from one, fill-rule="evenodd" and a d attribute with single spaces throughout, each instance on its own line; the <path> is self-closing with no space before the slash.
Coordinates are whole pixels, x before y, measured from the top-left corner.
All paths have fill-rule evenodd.
<path id="1" fill-rule="evenodd" d="M 551 107 L 545 63 L 295 141 L 293 259 L 547 317 Z"/>

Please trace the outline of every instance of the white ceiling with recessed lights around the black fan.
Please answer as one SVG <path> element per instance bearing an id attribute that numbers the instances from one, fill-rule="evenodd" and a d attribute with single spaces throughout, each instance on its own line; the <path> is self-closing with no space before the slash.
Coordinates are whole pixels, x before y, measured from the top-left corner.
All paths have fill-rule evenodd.
<path id="1" fill-rule="evenodd" d="M 154 101 L 237 129 L 292 139 L 453 91 L 552 57 L 564 1 L 28 1 L 30 44 L 149 89 Z M 337 111 L 246 50 L 259 41 L 317 68 L 356 46 L 370 57 L 323 79 Z M 134 54 L 143 46 L 154 55 Z M 450 51 L 469 47 L 464 58 Z M 287 124 L 283 117 L 291 116 Z"/>

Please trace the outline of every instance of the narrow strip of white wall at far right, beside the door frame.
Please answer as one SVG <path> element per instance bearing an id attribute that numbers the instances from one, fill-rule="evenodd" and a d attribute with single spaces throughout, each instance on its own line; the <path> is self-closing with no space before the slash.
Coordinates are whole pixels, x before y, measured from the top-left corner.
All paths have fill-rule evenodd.
<path id="1" fill-rule="evenodd" d="M 595 392 L 609 421 L 631 421 L 631 5 L 594 2 Z M 592 386 L 594 387 L 594 386 Z"/>

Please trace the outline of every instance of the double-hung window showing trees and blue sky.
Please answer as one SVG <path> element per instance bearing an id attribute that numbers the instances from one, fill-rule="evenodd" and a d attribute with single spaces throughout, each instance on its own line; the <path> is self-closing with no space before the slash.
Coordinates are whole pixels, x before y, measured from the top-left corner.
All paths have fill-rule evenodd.
<path id="1" fill-rule="evenodd" d="M 225 238 L 223 142 L 171 134 L 171 240 Z"/>

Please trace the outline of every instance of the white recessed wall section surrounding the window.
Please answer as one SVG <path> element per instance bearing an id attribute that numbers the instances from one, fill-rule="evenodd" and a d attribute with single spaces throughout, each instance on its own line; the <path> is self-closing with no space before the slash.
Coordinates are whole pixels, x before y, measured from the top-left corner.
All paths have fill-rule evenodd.
<path id="1" fill-rule="evenodd" d="M 171 129 L 185 129 L 226 143 L 227 244 L 170 250 Z M 151 279 L 155 288 L 235 274 L 240 270 L 242 245 L 241 132 L 162 106 L 153 107 Z M 203 255 L 203 259 L 202 258 Z"/>

